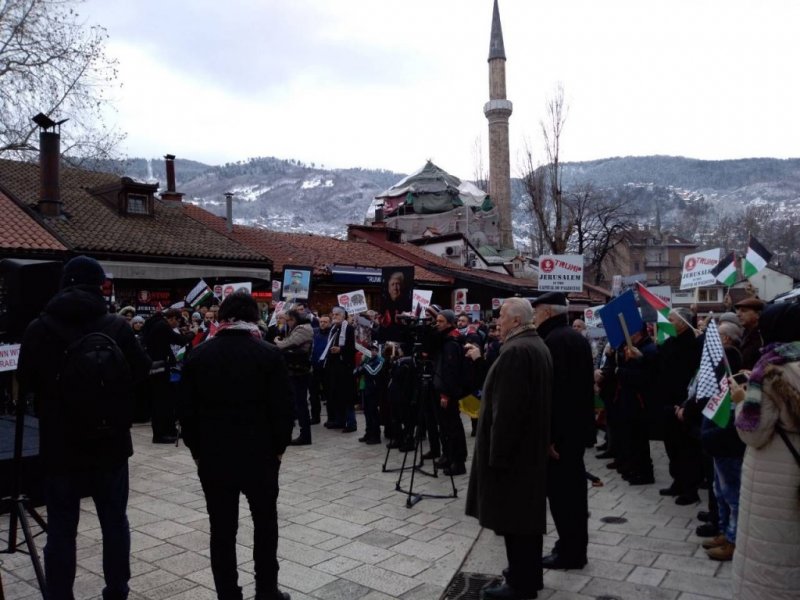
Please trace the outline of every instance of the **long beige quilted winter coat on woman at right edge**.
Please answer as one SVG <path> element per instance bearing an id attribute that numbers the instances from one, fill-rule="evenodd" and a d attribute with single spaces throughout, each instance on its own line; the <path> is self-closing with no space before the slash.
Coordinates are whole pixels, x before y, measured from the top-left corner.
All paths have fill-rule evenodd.
<path id="1" fill-rule="evenodd" d="M 751 385 L 748 399 L 758 391 Z M 800 451 L 800 362 L 767 367 L 755 427 L 742 430 L 745 402 L 736 406 L 747 444 L 742 466 L 733 598 L 788 600 L 800 594 L 800 465 L 776 427 Z"/>

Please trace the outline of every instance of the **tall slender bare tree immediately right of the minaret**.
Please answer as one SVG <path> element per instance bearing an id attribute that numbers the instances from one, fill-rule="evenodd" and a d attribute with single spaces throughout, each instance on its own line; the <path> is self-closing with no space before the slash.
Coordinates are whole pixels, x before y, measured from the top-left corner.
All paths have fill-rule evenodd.
<path id="1" fill-rule="evenodd" d="M 536 165 L 530 147 L 525 150 L 522 181 L 538 229 L 536 234 L 553 254 L 564 254 L 574 231 L 574 219 L 564 195 L 561 166 L 561 136 L 567 120 L 564 88 L 558 85 L 547 102 L 547 117 L 540 122 L 546 162 Z"/>

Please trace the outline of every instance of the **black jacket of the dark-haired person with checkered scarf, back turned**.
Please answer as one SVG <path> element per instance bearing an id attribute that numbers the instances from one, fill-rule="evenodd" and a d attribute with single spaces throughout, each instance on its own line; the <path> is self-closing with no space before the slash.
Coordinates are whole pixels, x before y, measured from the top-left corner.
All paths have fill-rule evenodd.
<path id="1" fill-rule="evenodd" d="M 249 331 L 219 331 L 183 365 L 178 418 L 196 459 L 274 459 L 283 454 L 291 440 L 293 413 L 281 351 Z"/>

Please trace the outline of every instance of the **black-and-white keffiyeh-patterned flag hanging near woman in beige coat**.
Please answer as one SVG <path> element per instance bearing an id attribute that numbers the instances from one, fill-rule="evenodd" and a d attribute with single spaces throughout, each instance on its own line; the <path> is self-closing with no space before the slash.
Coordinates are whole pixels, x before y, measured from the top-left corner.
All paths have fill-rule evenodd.
<path id="1" fill-rule="evenodd" d="M 731 392 L 728 388 L 730 374 L 731 370 L 728 366 L 728 359 L 725 357 L 719 330 L 712 319 L 706 327 L 700 369 L 697 371 L 696 397 L 698 399 L 708 398 L 706 407 L 703 409 L 703 416 L 713 421 L 717 427 L 722 428 L 728 425 L 733 409 Z"/>

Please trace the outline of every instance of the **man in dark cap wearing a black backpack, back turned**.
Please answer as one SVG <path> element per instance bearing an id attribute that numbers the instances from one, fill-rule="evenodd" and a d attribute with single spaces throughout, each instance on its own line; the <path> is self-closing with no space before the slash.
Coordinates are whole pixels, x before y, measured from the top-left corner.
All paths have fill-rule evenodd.
<path id="1" fill-rule="evenodd" d="M 103 529 L 103 598 L 128 597 L 130 422 L 111 428 L 102 437 L 84 437 L 86 424 L 75 422 L 75 412 L 66 408 L 69 391 L 59 385 L 59 380 L 70 375 L 62 373 L 68 368 L 67 347 L 90 332 L 103 332 L 122 351 L 130 374 L 130 389 L 118 389 L 113 401 L 119 403 L 120 415 L 133 414 L 133 384 L 147 375 L 150 360 L 128 322 L 108 314 L 100 291 L 104 280 L 105 273 L 96 260 L 86 256 L 70 260 L 64 266 L 61 291 L 28 326 L 20 349 L 17 377 L 22 392 L 33 393 L 39 416 L 48 520 L 44 548 L 48 598 L 72 597 L 80 500 L 87 490 Z"/>

